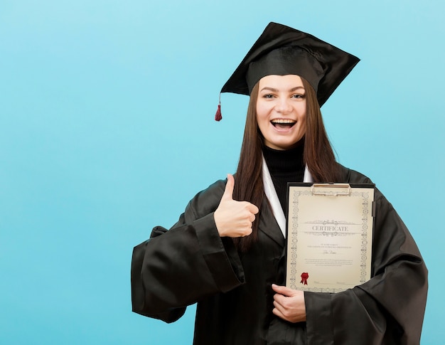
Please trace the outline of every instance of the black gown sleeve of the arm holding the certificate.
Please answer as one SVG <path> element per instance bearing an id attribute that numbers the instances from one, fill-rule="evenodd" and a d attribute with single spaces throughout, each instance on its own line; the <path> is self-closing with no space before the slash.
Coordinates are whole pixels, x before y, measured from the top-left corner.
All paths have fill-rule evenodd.
<path id="1" fill-rule="evenodd" d="M 407 227 L 376 190 L 373 277 L 335 294 L 305 292 L 307 344 L 419 344 L 427 267 Z"/>

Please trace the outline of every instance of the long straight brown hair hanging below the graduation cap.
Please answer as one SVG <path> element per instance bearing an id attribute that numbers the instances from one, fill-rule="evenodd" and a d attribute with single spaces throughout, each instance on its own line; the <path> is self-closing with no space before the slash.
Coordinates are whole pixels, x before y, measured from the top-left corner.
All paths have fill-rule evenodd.
<path id="1" fill-rule="evenodd" d="M 316 92 L 304 79 L 306 90 L 306 134 L 304 136 L 304 163 L 308 166 L 314 182 L 336 182 L 339 179 L 338 165 L 329 142 L 321 117 Z M 236 183 L 233 198 L 238 201 L 249 201 L 259 208 L 259 214 L 252 225 L 252 234 L 244 238 L 235 238 L 237 248 L 245 252 L 258 238 L 258 219 L 264 195 L 262 181 L 262 145 L 263 137 L 257 122 L 258 83 L 250 93 L 249 107 L 244 137 L 236 172 Z M 296 157 L 297 158 L 297 157 Z"/>

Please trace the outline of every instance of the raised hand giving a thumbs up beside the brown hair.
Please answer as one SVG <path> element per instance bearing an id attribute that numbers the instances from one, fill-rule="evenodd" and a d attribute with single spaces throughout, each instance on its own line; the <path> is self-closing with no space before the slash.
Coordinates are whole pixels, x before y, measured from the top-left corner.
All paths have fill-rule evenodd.
<path id="1" fill-rule="evenodd" d="M 215 211 L 215 224 L 220 237 L 244 237 L 252 233 L 257 206 L 248 201 L 233 200 L 235 179 L 227 174 L 227 184 L 220 205 Z"/>

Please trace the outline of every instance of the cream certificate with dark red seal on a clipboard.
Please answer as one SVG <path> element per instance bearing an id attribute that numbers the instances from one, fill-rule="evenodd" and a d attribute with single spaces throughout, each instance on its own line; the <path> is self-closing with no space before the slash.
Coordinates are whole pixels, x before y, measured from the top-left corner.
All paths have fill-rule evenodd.
<path id="1" fill-rule="evenodd" d="M 374 185 L 289 184 L 286 286 L 341 292 L 371 277 Z"/>

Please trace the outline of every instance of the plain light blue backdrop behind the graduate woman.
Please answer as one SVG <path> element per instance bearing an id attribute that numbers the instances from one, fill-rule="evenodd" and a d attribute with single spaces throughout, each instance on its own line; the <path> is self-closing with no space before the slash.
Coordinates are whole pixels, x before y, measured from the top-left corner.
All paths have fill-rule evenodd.
<path id="1" fill-rule="evenodd" d="M 217 123 L 218 93 L 277 21 L 362 59 L 326 127 L 417 240 L 443 344 L 444 4 L 0 0 L 0 343 L 191 344 L 194 307 L 131 312 L 132 248 L 235 171 L 247 97 Z"/>

